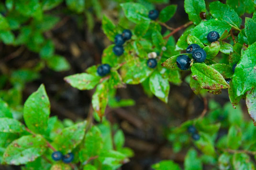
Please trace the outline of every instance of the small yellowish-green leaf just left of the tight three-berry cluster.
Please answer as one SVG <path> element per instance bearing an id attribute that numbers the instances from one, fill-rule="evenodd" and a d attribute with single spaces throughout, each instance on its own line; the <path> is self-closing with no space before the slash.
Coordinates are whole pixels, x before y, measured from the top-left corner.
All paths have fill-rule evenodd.
<path id="1" fill-rule="evenodd" d="M 118 34 L 118 29 L 106 15 L 103 15 L 102 30 L 107 35 L 108 39 L 114 42 L 115 36 Z"/>

